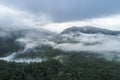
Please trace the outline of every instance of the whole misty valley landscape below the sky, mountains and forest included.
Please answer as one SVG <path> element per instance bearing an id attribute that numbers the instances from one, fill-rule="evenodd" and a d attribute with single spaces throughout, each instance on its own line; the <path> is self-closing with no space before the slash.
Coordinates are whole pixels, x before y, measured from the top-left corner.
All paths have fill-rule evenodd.
<path id="1" fill-rule="evenodd" d="M 120 80 L 120 31 L 0 29 L 0 80 Z"/>

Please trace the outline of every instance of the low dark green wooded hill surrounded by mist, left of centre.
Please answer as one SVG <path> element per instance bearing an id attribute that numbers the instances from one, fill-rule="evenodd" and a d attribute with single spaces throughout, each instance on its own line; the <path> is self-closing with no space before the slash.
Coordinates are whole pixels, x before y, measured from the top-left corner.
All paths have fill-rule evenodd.
<path id="1" fill-rule="evenodd" d="M 17 54 L 16 59 L 19 58 L 28 58 L 28 59 L 34 59 L 34 58 L 52 58 L 59 55 L 66 55 L 64 51 L 53 49 L 50 46 L 44 46 L 36 47 L 35 49 L 30 49 L 26 51 L 23 54 Z"/>

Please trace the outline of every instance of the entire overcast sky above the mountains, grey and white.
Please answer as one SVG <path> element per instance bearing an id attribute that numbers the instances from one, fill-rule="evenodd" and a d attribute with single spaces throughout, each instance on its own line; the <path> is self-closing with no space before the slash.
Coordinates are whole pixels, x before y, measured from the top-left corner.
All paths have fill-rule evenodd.
<path id="1" fill-rule="evenodd" d="M 60 32 L 84 25 L 120 30 L 120 0 L 0 0 L 1 27 Z"/>

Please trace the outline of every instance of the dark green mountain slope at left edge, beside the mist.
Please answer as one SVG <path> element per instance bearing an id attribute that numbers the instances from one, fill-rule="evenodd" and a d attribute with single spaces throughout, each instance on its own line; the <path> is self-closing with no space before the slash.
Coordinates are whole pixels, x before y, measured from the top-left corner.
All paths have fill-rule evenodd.
<path id="1" fill-rule="evenodd" d="M 5 57 L 20 49 L 18 43 L 15 42 L 15 36 L 8 38 L 0 37 L 0 57 Z"/>

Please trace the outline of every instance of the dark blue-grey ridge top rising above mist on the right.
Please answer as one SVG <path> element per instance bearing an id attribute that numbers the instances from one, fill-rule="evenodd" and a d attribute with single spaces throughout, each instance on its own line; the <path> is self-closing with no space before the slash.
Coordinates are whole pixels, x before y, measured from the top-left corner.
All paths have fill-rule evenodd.
<path id="1" fill-rule="evenodd" d="M 73 26 L 71 28 L 65 29 L 61 34 L 68 34 L 68 33 L 75 33 L 75 32 L 81 32 L 81 33 L 86 33 L 86 34 L 101 33 L 105 35 L 119 35 L 120 34 L 120 31 L 112 31 L 112 30 L 96 28 L 92 26 L 83 26 L 83 27 Z"/>

